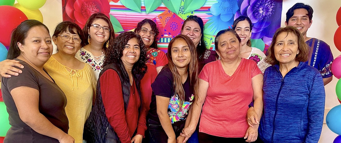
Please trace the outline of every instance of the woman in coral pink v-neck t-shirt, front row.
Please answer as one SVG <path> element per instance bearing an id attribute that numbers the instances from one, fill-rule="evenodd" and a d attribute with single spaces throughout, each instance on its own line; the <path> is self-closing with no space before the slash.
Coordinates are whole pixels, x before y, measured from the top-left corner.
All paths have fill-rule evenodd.
<path id="1" fill-rule="evenodd" d="M 238 57 L 240 41 L 233 29 L 217 34 L 216 51 L 221 60 L 206 64 L 201 71 L 191 122 L 182 136 L 188 137 L 194 132 L 202 110 L 200 143 L 242 143 L 257 139 L 258 125 L 248 125 L 247 110 L 254 100 L 254 110 L 261 117 L 263 75 L 254 61 Z"/>

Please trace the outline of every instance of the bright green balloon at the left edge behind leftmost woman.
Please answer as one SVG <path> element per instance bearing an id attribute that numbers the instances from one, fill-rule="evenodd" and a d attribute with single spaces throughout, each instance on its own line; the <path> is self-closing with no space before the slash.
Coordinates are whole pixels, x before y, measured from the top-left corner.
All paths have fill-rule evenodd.
<path id="1" fill-rule="evenodd" d="M 0 102 L 0 137 L 6 136 L 8 129 L 10 129 L 10 121 L 8 121 L 8 113 L 4 102 Z"/>

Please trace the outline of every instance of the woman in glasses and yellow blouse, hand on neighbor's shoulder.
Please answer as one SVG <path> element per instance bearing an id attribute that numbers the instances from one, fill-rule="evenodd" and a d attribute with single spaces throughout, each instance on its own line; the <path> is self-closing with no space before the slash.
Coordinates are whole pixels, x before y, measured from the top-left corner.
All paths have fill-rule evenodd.
<path id="1" fill-rule="evenodd" d="M 81 39 L 83 32 L 77 24 L 68 21 L 59 23 L 52 36 L 57 45 L 57 53 L 44 64 L 47 73 L 66 96 L 68 134 L 75 139 L 75 143 L 83 142 L 84 123 L 90 114 L 96 91 L 96 79 L 91 66 L 75 58 L 76 52 L 84 46 Z M 13 60 L 2 61 L 0 65 L 0 72 L 8 70 L 11 65 L 22 66 Z"/>

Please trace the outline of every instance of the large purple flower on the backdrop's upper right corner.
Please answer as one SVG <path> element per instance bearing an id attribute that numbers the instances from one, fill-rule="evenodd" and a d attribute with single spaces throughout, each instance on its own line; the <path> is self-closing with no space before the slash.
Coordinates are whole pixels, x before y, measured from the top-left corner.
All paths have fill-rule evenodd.
<path id="1" fill-rule="evenodd" d="M 235 14 L 248 16 L 253 23 L 252 39 L 263 39 L 267 45 L 281 26 L 282 0 L 242 0 L 238 2 L 240 11 Z"/>

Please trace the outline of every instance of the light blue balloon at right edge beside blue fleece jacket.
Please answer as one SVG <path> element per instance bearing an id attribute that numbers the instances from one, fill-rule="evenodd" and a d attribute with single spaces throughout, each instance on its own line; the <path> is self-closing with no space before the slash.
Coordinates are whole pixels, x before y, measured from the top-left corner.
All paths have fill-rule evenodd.
<path id="1" fill-rule="evenodd" d="M 330 109 L 326 116 L 326 123 L 332 132 L 341 135 L 341 105 Z"/>

